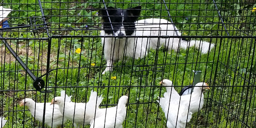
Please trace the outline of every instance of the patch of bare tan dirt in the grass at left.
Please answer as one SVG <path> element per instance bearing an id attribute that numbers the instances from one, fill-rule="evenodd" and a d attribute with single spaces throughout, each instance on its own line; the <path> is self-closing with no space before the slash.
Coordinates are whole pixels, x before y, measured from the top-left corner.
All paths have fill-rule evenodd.
<path id="1" fill-rule="evenodd" d="M 27 44 L 18 44 L 18 48 L 17 48 L 17 55 L 21 58 L 21 59 L 29 59 L 29 63 L 30 64 L 34 64 L 37 65 L 36 67 L 38 67 L 39 71 L 39 75 L 43 75 L 46 73 L 46 69 L 47 69 L 47 49 L 43 49 L 40 48 L 40 51 L 38 51 L 38 49 L 32 49 L 32 47 L 26 47 Z M 16 46 L 12 44 L 12 49 L 16 52 Z M 66 56 L 69 56 L 69 49 L 67 48 L 66 51 L 65 49 L 61 49 L 61 53 L 66 54 Z M 57 67 L 57 52 L 58 51 L 54 51 L 54 49 L 51 50 L 51 54 L 50 54 L 50 69 L 55 69 Z M 71 51 L 73 52 L 73 50 Z M 74 53 L 73 53 L 74 54 Z M 2 44 L 0 46 L 0 63 L 1 64 L 11 64 L 14 63 L 16 61 L 16 58 L 11 54 L 11 52 L 5 47 L 4 44 Z M 28 58 L 26 58 L 28 57 Z M 59 60 L 59 64 L 58 64 L 58 68 L 63 67 L 63 64 L 60 62 L 63 62 L 64 59 L 60 59 Z M 66 58 L 66 62 L 67 63 L 68 58 Z M 25 61 L 23 61 L 24 63 L 26 63 Z M 17 62 L 18 63 L 18 62 Z M 70 67 L 78 67 L 79 66 L 79 61 L 75 61 L 72 60 L 72 55 L 70 56 L 70 62 L 69 62 L 69 66 Z M 30 69 L 33 70 L 33 69 Z M 25 75 L 25 71 L 20 71 L 21 75 Z M 90 73 L 90 76 L 87 77 L 94 77 L 94 73 Z"/>

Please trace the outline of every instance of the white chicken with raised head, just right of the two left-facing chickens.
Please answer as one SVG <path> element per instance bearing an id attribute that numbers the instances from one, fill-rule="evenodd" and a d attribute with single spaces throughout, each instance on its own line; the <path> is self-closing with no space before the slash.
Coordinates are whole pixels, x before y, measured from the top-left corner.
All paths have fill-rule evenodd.
<path id="1" fill-rule="evenodd" d="M 117 106 L 97 110 L 96 114 L 99 117 L 90 122 L 90 128 L 122 128 L 126 116 L 127 100 L 127 96 L 121 96 Z"/>

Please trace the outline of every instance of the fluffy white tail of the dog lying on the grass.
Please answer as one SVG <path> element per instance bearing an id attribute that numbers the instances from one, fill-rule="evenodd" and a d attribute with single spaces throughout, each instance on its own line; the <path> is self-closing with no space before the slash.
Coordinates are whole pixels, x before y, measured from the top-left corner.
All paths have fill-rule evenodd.
<path id="1" fill-rule="evenodd" d="M 214 44 L 210 44 L 207 41 L 202 41 L 202 40 L 181 40 L 180 41 L 180 47 L 182 49 L 187 49 L 188 47 L 193 47 L 199 49 L 202 54 L 206 54 L 207 52 L 210 52 L 211 49 L 214 47 Z"/>

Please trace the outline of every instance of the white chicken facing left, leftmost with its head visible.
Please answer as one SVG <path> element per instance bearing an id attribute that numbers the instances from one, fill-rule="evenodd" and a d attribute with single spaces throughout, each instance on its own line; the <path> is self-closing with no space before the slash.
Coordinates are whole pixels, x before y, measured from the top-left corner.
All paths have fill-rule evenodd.
<path id="1" fill-rule="evenodd" d="M 65 97 L 65 91 L 61 91 L 61 96 Z M 64 98 L 63 97 L 63 98 Z M 70 102 L 71 96 L 66 95 L 66 101 Z M 52 128 L 58 128 L 62 125 L 63 116 L 59 110 L 58 105 L 50 105 L 51 103 L 46 103 L 45 106 L 45 120 L 44 122 L 52 126 Z M 20 102 L 21 106 L 27 106 L 32 114 L 32 116 L 40 122 L 43 122 L 43 111 L 44 111 L 44 103 L 36 103 L 33 99 L 25 98 Z M 53 113 L 53 116 L 52 116 Z M 67 119 L 64 118 L 63 123 L 66 122 Z"/>

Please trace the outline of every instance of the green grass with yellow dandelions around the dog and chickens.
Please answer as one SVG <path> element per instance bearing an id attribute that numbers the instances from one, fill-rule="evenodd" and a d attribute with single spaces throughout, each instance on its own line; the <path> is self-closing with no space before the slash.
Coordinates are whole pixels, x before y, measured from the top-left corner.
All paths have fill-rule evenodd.
<path id="1" fill-rule="evenodd" d="M 100 25 L 100 17 L 96 14 L 98 10 L 91 11 L 87 8 L 98 9 L 104 7 L 103 4 L 80 3 L 84 2 L 81 0 L 76 1 L 78 3 L 73 3 L 73 0 L 63 0 L 63 2 L 70 3 L 51 3 L 51 0 L 44 0 L 42 3 L 48 25 L 51 26 L 49 28 L 51 35 L 99 35 L 100 32 L 97 30 L 58 31 L 57 29 L 83 27 L 85 24 L 89 28 L 93 26 L 97 28 Z M 99 0 L 89 0 L 87 2 L 99 2 Z M 123 1 L 108 0 L 108 2 Z M 131 1 L 125 0 L 125 2 Z M 143 9 L 147 9 L 141 12 L 141 16 L 159 17 L 161 15 L 163 18 L 169 19 L 164 17 L 168 16 L 168 13 L 164 4 L 160 4 L 159 1 L 140 0 L 140 2 Z M 155 4 L 152 2 L 155 2 Z M 218 9 L 225 9 L 220 11 L 220 14 L 223 16 L 222 19 L 226 23 L 225 26 L 230 36 L 243 36 L 245 35 L 243 32 L 255 35 L 253 31 L 255 30 L 255 25 L 253 24 L 255 13 L 251 12 L 255 5 L 243 3 L 221 4 L 220 2 L 221 0 L 217 0 L 216 5 Z M 6 3 L 18 3 L 18 0 Z M 39 6 L 35 4 L 34 0 L 23 0 L 20 3 L 25 4 L 4 5 L 8 8 L 12 6 L 13 10 L 29 10 L 12 12 L 12 17 L 23 18 L 12 18 L 9 23 L 28 24 L 27 17 L 41 15 Z M 26 5 L 26 3 L 34 4 Z M 170 9 L 172 20 L 179 29 L 182 29 L 183 35 L 185 35 L 184 32 L 187 35 L 227 35 L 224 27 L 221 26 L 221 20 L 212 1 L 208 1 L 208 4 L 206 4 L 207 0 L 186 0 L 186 4 L 184 4 L 184 0 L 175 0 L 171 1 L 171 3 L 166 1 L 166 3 L 166 6 Z M 137 6 L 138 4 L 134 3 L 132 5 Z M 114 3 L 109 3 L 108 6 L 114 6 Z M 116 6 L 119 8 L 123 6 L 126 9 L 131 5 L 119 3 Z M 162 12 L 160 9 L 163 9 Z M 91 15 L 93 16 L 91 17 Z M 140 17 L 140 19 L 143 19 L 143 17 Z M 39 23 L 41 22 L 38 21 Z M 241 29 L 241 31 L 235 27 Z M 248 31 L 249 29 L 250 31 Z M 221 30 L 223 31 L 221 32 Z M 32 32 L 3 32 L 3 37 L 34 38 L 34 35 Z M 35 37 L 46 37 L 46 33 L 39 33 Z M 52 90 L 52 93 L 47 93 L 47 102 L 50 102 L 54 95 L 58 96 L 63 87 L 67 87 L 67 94 L 73 96 L 73 102 L 75 98 L 77 102 L 86 102 L 92 89 L 104 97 L 102 105 L 116 104 L 120 96 L 129 94 L 130 105 L 128 105 L 127 118 L 123 124 L 125 128 L 135 128 L 135 126 L 137 128 L 164 128 L 166 123 L 164 113 L 155 102 L 157 96 L 162 96 L 166 91 L 159 86 L 159 81 L 161 79 L 171 79 L 175 85 L 189 85 L 193 82 L 192 70 L 201 70 L 201 81 L 206 81 L 212 87 L 204 95 L 206 98 L 204 108 L 200 113 L 193 115 L 187 126 L 189 128 L 245 127 L 239 121 L 240 119 L 253 127 L 251 122 L 255 121 L 256 117 L 256 111 L 253 108 L 256 105 L 256 102 L 254 102 L 256 99 L 255 88 L 246 86 L 252 86 L 255 81 L 255 57 L 252 58 L 255 55 L 253 53 L 255 40 L 253 38 L 204 38 L 203 40 L 211 41 L 215 44 L 215 49 L 209 54 L 201 55 L 194 48 L 189 48 L 188 52 L 180 50 L 178 53 L 174 51 L 166 52 L 163 48 L 150 50 L 145 58 L 138 60 L 125 58 L 124 62 L 114 64 L 119 67 L 114 67 L 111 74 L 101 75 L 102 69 L 104 70 L 102 66 L 105 66 L 105 60 L 102 56 L 100 38 L 52 38 L 50 69 L 55 70 L 49 73 L 48 90 Z M 47 41 L 7 41 L 12 42 L 12 47 L 21 44 L 19 49 L 28 47 L 31 49 L 32 53 L 29 56 L 26 56 L 26 54 L 20 55 L 23 61 L 28 60 L 30 69 L 46 69 Z M 81 54 L 74 52 L 77 48 L 81 48 Z M 59 51 L 59 56 L 57 56 L 57 51 Z M 79 67 L 79 61 L 81 61 L 80 65 L 83 67 L 81 69 L 76 68 Z M 96 64 L 95 67 L 91 66 L 92 63 Z M 157 72 L 153 71 L 155 66 L 157 67 Z M 18 102 L 25 96 L 24 91 L 21 90 L 33 90 L 33 81 L 29 76 L 26 76 L 25 72 L 17 70 L 23 70 L 17 62 L 4 63 L 4 61 L 1 61 L 0 89 L 2 92 L 0 99 L 1 101 L 3 99 L 3 102 L 0 105 L 3 106 L 1 111 L 7 111 L 3 113 L 3 116 L 9 120 L 5 127 L 34 127 L 34 119 L 30 112 L 25 111 L 23 113 L 20 110 L 24 110 L 24 108 L 18 106 Z M 147 71 L 142 72 L 139 70 L 148 70 L 148 73 Z M 38 76 L 44 73 L 45 71 L 34 71 L 34 74 L 38 74 Z M 145 76 L 138 76 L 140 74 Z M 112 76 L 116 76 L 116 80 L 111 79 Z M 45 80 L 46 78 L 43 77 L 43 79 Z M 251 83 L 249 84 L 248 81 Z M 54 88 L 55 86 L 60 88 Z M 175 89 L 180 91 L 181 87 L 175 87 Z M 26 97 L 33 99 L 36 97 L 38 102 L 44 102 L 44 95 L 45 93 L 26 91 Z M 224 108 L 227 108 L 229 113 Z M 25 118 L 23 118 L 24 114 Z M 70 127 L 70 124 L 72 123 L 65 123 L 67 128 Z M 35 121 L 35 127 L 39 127 L 39 125 L 41 124 Z M 86 126 L 86 128 L 89 128 L 89 126 Z"/>

